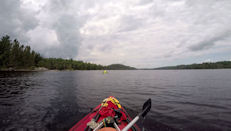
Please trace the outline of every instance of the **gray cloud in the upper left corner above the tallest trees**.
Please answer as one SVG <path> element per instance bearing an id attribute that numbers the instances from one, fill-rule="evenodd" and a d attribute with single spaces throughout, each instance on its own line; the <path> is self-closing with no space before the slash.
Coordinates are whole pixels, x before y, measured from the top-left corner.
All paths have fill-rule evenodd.
<path id="1" fill-rule="evenodd" d="M 0 2 L 0 36 L 10 35 L 22 42 L 27 42 L 25 33 L 38 25 L 35 12 L 29 12 L 20 6 L 19 0 Z"/>

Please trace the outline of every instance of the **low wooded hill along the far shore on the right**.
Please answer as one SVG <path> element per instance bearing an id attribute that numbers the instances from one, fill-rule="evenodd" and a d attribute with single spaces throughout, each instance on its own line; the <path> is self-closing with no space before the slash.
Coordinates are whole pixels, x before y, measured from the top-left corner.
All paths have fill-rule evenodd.
<path id="1" fill-rule="evenodd" d="M 177 65 L 154 68 L 158 69 L 226 69 L 231 68 L 231 61 L 206 62 L 201 64 Z"/>

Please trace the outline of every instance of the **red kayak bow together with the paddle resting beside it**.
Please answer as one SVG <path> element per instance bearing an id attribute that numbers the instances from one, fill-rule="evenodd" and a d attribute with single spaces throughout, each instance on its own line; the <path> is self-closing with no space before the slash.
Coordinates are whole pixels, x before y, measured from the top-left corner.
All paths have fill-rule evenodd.
<path id="1" fill-rule="evenodd" d="M 147 104 L 144 105 L 143 112 L 139 116 L 142 115 L 144 117 L 150 110 L 151 100 L 149 102 L 150 105 L 148 106 L 150 107 L 144 109 L 144 106 L 147 107 Z M 139 116 L 135 119 L 138 120 Z M 137 120 L 132 120 L 126 110 L 119 104 L 119 101 L 115 97 L 110 96 L 104 99 L 101 104 L 95 107 L 69 131 L 140 131 L 140 128 L 135 124 Z"/>

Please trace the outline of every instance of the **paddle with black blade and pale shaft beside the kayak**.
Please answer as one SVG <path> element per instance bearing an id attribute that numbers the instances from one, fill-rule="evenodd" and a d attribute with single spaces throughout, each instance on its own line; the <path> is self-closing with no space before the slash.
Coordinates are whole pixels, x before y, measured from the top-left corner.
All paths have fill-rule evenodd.
<path id="1" fill-rule="evenodd" d="M 147 113 L 150 111 L 152 107 L 152 100 L 149 98 L 143 105 L 143 110 L 140 112 L 122 131 L 129 130 L 142 116 L 143 118 L 147 115 Z"/>

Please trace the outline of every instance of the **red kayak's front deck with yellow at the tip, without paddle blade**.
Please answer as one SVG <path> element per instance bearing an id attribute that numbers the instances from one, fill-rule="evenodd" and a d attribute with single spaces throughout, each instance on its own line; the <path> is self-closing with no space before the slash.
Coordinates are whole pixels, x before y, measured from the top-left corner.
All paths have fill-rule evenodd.
<path id="1" fill-rule="evenodd" d="M 89 126 L 91 121 L 94 121 L 93 123 L 98 125 L 99 123 L 103 123 L 104 127 L 107 127 L 107 122 L 105 121 L 109 117 L 115 120 L 114 123 L 116 123 L 120 130 L 126 127 L 131 121 L 131 117 L 119 104 L 119 101 L 115 97 L 110 96 L 75 124 L 69 131 L 92 131 L 93 129 Z M 140 131 L 140 129 L 137 125 L 133 125 L 128 131 Z"/>

